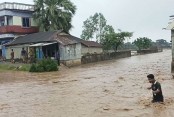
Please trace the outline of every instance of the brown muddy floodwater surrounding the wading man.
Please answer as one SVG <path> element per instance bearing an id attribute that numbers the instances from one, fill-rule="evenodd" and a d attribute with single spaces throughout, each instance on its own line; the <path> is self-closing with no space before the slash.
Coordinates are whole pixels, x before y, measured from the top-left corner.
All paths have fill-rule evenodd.
<path id="1" fill-rule="evenodd" d="M 51 73 L 0 72 L 0 117 L 174 117 L 171 50 Z M 146 76 L 161 83 L 152 104 Z"/>

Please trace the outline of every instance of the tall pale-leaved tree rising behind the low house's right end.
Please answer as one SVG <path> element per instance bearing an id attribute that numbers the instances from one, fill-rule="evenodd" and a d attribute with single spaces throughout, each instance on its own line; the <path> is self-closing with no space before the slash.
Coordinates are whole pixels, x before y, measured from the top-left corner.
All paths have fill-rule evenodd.
<path id="1" fill-rule="evenodd" d="M 106 27 L 106 19 L 101 13 L 95 13 L 83 22 L 83 31 L 81 38 L 90 40 L 94 36 L 98 42 L 103 38 L 104 29 Z"/>

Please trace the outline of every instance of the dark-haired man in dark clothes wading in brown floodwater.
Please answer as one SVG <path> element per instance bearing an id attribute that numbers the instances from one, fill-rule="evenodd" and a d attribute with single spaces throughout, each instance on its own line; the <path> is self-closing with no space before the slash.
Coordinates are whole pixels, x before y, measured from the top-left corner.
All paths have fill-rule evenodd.
<path id="1" fill-rule="evenodd" d="M 153 93 L 152 103 L 163 102 L 164 98 L 162 94 L 161 84 L 155 80 L 153 74 L 147 75 L 147 78 L 149 80 L 149 83 L 152 84 L 151 87 L 148 88 L 148 89 L 152 89 L 152 93 Z"/>

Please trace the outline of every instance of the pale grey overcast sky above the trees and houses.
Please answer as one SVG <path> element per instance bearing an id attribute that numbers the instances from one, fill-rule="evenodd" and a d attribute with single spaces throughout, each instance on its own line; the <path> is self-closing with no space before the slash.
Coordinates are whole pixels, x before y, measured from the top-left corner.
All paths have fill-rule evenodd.
<path id="1" fill-rule="evenodd" d="M 32 4 L 33 0 L 1 0 L 1 2 Z M 25 2 L 24 2 L 25 1 Z M 162 30 L 174 15 L 174 0 L 71 0 L 77 11 L 73 17 L 71 34 L 80 37 L 83 21 L 96 12 L 102 13 L 108 25 L 115 30 L 134 32 L 131 41 L 138 37 L 166 39 L 170 41 L 170 31 Z"/>

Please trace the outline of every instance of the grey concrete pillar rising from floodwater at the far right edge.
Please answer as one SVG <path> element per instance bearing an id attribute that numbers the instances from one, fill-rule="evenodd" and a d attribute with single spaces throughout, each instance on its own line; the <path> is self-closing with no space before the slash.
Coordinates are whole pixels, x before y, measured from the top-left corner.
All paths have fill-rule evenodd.
<path id="1" fill-rule="evenodd" d="M 171 30 L 171 40 L 172 40 L 172 63 L 171 63 L 171 72 L 174 73 L 174 30 Z"/>

